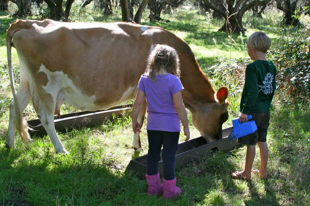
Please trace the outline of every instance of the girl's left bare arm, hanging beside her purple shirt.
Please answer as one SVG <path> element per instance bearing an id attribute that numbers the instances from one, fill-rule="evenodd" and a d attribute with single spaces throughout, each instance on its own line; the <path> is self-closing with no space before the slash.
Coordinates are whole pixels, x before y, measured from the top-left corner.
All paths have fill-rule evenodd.
<path id="1" fill-rule="evenodd" d="M 138 89 L 137 96 L 135 98 L 134 104 L 132 105 L 132 113 L 131 113 L 132 130 L 134 131 L 135 134 L 138 131 L 141 132 L 141 125 L 140 122 L 138 122 L 138 115 L 140 113 L 144 98 L 145 98 L 144 92 Z"/>

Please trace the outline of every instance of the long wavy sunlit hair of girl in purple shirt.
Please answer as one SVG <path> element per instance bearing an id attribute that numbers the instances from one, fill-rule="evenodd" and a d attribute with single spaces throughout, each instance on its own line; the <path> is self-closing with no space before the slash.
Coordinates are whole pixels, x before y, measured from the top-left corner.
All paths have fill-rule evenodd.
<path id="1" fill-rule="evenodd" d="M 177 51 L 164 44 L 158 44 L 148 56 L 148 64 L 145 74 L 152 80 L 157 82 L 156 74 L 161 68 L 168 73 L 180 77 L 179 56 Z"/>

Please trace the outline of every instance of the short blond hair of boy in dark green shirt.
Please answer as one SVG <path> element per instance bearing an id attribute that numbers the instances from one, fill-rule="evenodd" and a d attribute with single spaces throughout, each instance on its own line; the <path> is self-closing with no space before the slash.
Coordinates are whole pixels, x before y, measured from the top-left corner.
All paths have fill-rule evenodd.
<path id="1" fill-rule="evenodd" d="M 266 53 L 270 48 L 271 41 L 266 33 L 264 32 L 254 32 L 248 38 L 247 44 L 254 50 Z"/>

